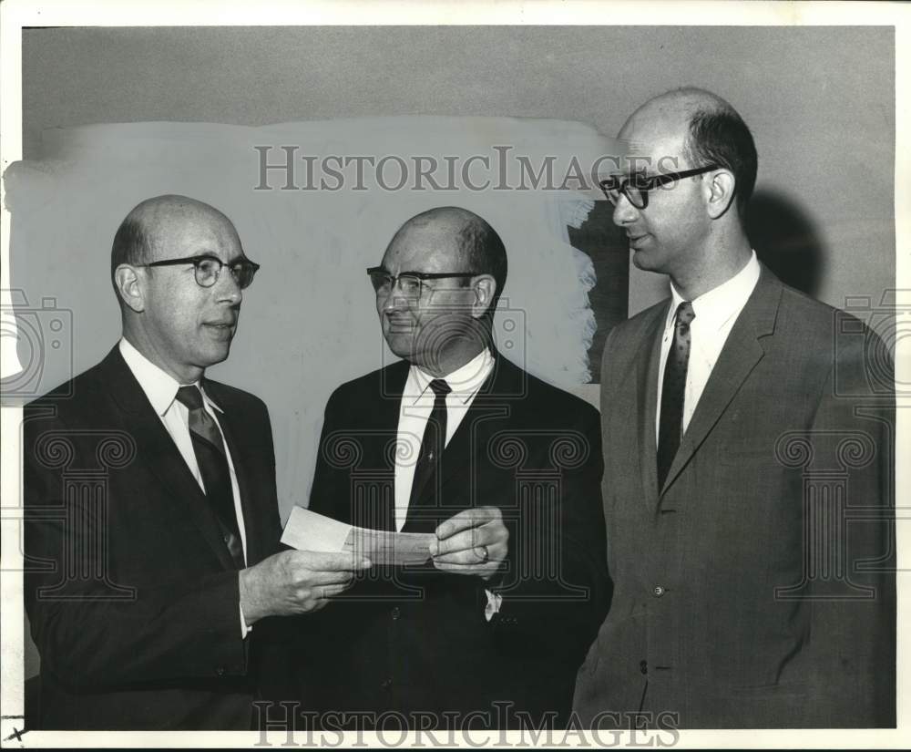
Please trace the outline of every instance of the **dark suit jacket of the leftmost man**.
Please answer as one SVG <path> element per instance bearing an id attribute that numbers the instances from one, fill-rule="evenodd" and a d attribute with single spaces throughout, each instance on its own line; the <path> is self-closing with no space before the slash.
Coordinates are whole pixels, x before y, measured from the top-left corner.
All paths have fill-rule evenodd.
<path id="1" fill-rule="evenodd" d="M 205 389 L 224 410 L 253 564 L 281 534 L 269 416 L 238 389 Z M 241 639 L 218 523 L 118 347 L 25 421 L 25 598 L 41 655 L 29 725 L 249 729 L 271 625 Z"/>

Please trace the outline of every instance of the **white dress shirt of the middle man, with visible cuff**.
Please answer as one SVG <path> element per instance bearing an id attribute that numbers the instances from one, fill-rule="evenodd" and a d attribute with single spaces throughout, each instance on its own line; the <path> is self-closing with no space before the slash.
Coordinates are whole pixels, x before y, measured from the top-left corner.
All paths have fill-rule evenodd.
<path id="1" fill-rule="evenodd" d="M 494 357 L 485 350 L 465 366 L 457 368 L 443 377 L 452 390 L 446 395 L 446 438 L 445 447 L 461 425 L 477 392 L 494 367 Z M 399 405 L 399 423 L 396 434 L 396 446 L 402 451 L 395 452 L 395 529 L 402 531 L 408 517 L 408 502 L 411 499 L 411 487 L 415 480 L 415 462 L 421 452 L 424 431 L 427 421 L 434 409 L 436 395 L 430 388 L 430 376 L 417 366 L 411 366 L 405 380 L 402 402 Z M 485 591 L 487 604 L 484 616 L 489 622 L 498 613 L 503 603 L 503 596 L 498 592 Z"/>

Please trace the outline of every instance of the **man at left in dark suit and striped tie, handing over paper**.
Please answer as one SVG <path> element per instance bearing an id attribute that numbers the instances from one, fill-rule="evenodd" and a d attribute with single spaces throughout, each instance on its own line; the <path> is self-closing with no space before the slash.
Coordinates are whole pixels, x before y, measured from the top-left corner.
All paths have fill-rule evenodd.
<path id="1" fill-rule="evenodd" d="M 257 268 L 220 211 L 143 201 L 111 252 L 123 338 L 26 407 L 30 727 L 249 729 L 282 662 L 261 620 L 351 581 L 347 557 L 276 553 L 266 407 L 204 376 Z"/>

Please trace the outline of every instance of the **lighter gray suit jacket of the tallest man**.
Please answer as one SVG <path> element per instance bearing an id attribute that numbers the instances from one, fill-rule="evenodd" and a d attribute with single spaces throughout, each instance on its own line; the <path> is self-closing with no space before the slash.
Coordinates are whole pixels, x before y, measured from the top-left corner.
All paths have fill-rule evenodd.
<path id="1" fill-rule="evenodd" d="M 889 355 L 763 268 L 659 489 L 668 305 L 620 324 L 604 350 L 617 589 L 576 709 L 591 722 L 641 706 L 684 728 L 894 726 Z"/>

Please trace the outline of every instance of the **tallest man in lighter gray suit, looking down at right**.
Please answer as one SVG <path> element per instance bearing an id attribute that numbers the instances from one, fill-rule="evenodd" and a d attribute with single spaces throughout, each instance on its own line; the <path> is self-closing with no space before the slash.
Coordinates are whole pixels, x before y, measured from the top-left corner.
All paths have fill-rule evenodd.
<path id="1" fill-rule="evenodd" d="M 730 104 L 681 89 L 619 137 L 644 174 L 602 187 L 672 298 L 605 345 L 616 592 L 575 709 L 600 727 L 894 726 L 890 356 L 757 261 L 756 151 Z"/>

